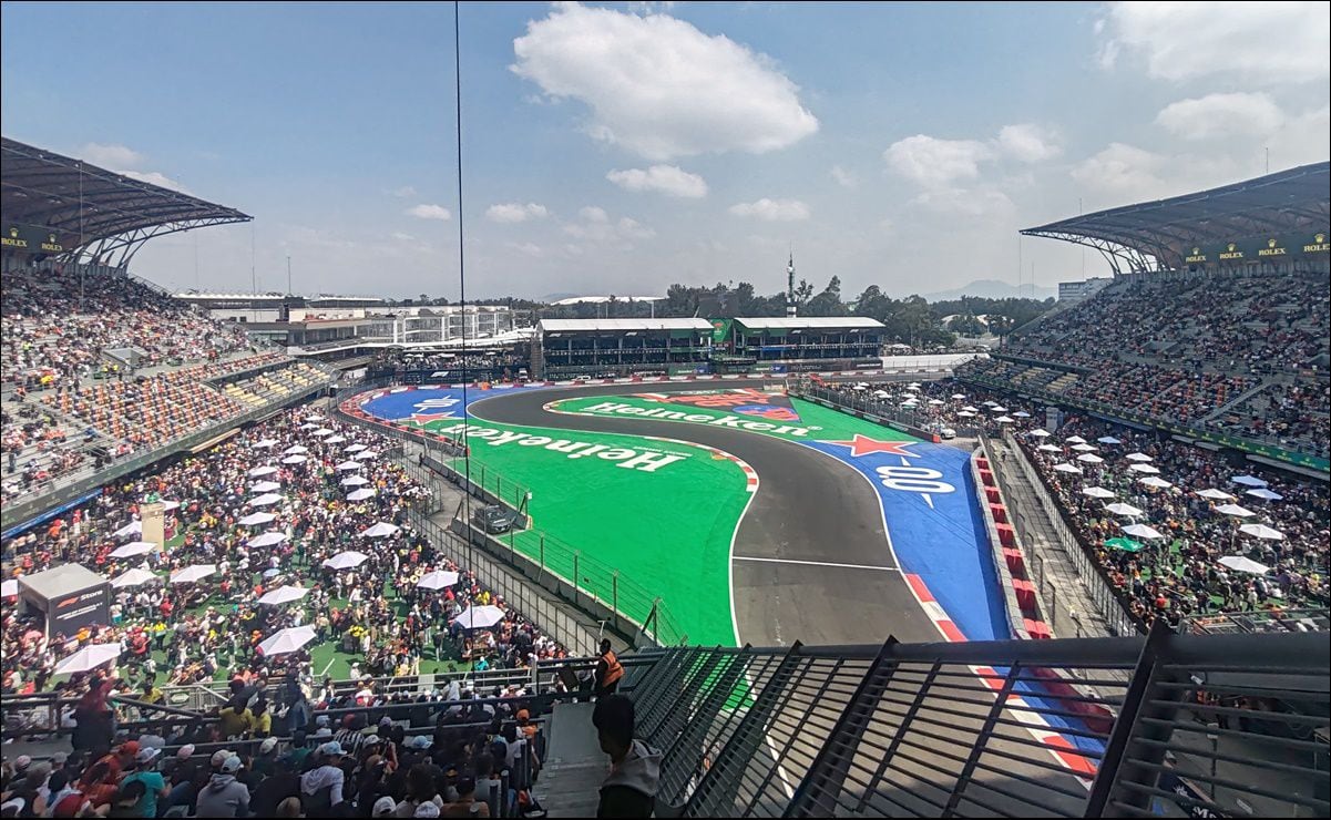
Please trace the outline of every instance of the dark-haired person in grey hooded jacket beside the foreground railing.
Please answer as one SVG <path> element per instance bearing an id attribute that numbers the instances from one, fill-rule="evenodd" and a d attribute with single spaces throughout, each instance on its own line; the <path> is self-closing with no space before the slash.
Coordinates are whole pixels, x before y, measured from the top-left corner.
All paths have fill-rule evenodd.
<path id="1" fill-rule="evenodd" d="M 600 787 L 596 816 L 651 817 L 662 753 L 634 740 L 634 702 L 623 695 L 606 695 L 596 702 L 591 721 L 611 763 L 610 776 Z"/>

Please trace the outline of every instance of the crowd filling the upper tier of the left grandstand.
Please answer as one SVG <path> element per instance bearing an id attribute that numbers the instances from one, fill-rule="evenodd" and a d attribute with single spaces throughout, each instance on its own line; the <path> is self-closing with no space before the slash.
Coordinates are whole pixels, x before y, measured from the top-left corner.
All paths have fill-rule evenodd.
<path id="1" fill-rule="evenodd" d="M 241 327 L 213 322 L 128 276 L 29 272 L 5 276 L 0 358 L 4 382 L 25 390 L 110 374 L 108 350 L 140 351 L 137 367 L 213 361 L 245 350 Z"/>

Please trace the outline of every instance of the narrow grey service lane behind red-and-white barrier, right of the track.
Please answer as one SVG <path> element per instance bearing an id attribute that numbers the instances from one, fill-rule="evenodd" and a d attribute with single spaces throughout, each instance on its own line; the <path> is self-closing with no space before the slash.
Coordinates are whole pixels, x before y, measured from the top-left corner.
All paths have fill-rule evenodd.
<path id="1" fill-rule="evenodd" d="M 1058 535 L 1049 514 L 1036 497 L 1037 489 L 1021 470 L 1013 469 L 1016 455 L 1001 438 L 990 438 L 994 474 L 1012 507 L 1022 547 L 1030 555 L 1030 568 L 1040 584 L 1040 594 L 1050 608 L 1049 627 L 1058 638 L 1101 638 L 1111 635 L 1077 567 L 1058 544 Z"/>

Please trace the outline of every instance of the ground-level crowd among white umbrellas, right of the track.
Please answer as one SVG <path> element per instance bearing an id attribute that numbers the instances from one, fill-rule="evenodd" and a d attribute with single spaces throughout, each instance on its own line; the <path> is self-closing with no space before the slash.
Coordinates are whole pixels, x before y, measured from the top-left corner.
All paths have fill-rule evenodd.
<path id="1" fill-rule="evenodd" d="M 1256 477 L 1267 482 L 1263 490 L 1280 497 L 1266 501 L 1250 495 L 1247 486 L 1233 482 L 1240 469 L 1231 466 L 1222 454 L 1177 442 L 1165 434 L 1089 417 L 1069 418 L 1050 437 L 1030 435 L 1038 430 L 1034 423 L 1021 427 L 1020 446 L 1054 490 L 1078 536 L 1110 580 L 1127 595 L 1135 616 L 1145 622 L 1163 616 L 1177 624 L 1190 615 L 1219 611 L 1327 606 L 1331 502 L 1324 487 L 1274 471 L 1256 471 Z M 1121 443 L 1098 443 L 1101 438 Z M 1083 461 L 1079 458 L 1083 454 L 1103 461 Z M 1129 454 L 1139 455 L 1129 459 Z M 1055 469 L 1058 465 L 1062 467 Z M 1252 465 L 1242 470 L 1251 473 Z M 1170 486 L 1143 483 L 1150 478 Z M 1090 487 L 1105 489 L 1113 497 L 1085 494 Z M 1198 495 L 1203 490 L 1223 491 L 1231 498 Z M 1129 505 L 1141 512 L 1115 515 L 1106 509 L 1114 503 Z M 1225 505 L 1240 506 L 1250 514 L 1221 512 Z M 1162 538 L 1139 540 L 1138 551 L 1106 546 L 1107 540 L 1123 536 L 1122 527 L 1133 523 L 1147 524 Z M 1282 538 L 1262 539 L 1239 530 L 1258 523 Z M 1225 556 L 1244 556 L 1268 571 L 1230 570 L 1219 563 Z"/>

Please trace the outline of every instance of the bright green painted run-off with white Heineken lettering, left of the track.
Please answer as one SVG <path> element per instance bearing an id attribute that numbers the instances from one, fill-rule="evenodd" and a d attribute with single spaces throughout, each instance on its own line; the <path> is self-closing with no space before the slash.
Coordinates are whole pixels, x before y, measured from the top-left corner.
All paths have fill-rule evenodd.
<path id="1" fill-rule="evenodd" d="M 455 419 L 425 426 L 462 434 Z M 473 421 L 467 437 L 458 471 L 504 501 L 531 493 L 531 526 L 500 536 L 511 548 L 639 623 L 662 598 L 671 638 L 733 646 L 729 550 L 749 499 L 739 465 L 634 435 Z"/>

